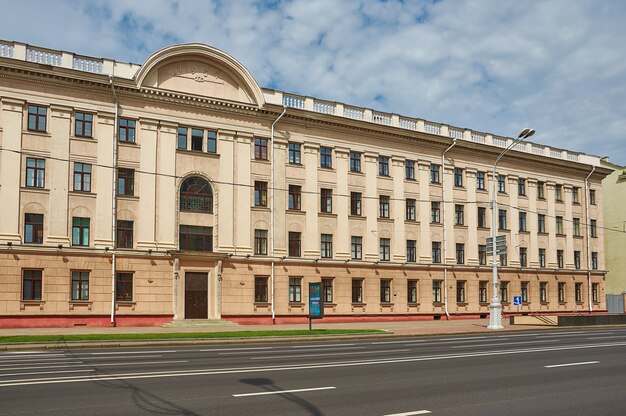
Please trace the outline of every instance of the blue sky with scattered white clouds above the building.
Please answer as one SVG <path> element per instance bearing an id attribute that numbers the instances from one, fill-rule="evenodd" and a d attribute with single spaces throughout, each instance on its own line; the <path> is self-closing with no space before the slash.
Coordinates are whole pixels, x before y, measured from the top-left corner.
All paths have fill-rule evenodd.
<path id="1" fill-rule="evenodd" d="M 3 3 L 0 39 L 138 64 L 201 42 L 261 87 L 626 165 L 623 0 Z"/>

